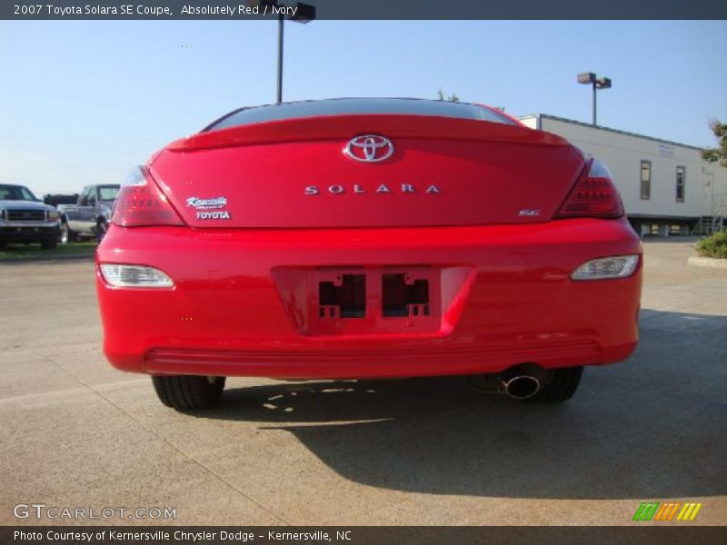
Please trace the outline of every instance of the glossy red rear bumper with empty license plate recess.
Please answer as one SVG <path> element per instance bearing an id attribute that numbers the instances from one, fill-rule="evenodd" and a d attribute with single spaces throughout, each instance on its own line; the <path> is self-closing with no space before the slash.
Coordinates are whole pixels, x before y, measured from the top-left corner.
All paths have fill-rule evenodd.
<path id="1" fill-rule="evenodd" d="M 641 243 L 625 220 L 340 231 L 114 226 L 99 263 L 154 266 L 175 286 L 111 288 L 98 274 L 105 354 L 128 372 L 280 378 L 618 362 L 638 342 L 641 263 L 620 280 L 570 274 L 589 259 L 634 253 Z M 435 315 L 383 317 L 373 290 L 365 318 L 321 325 L 306 313 L 310 290 L 294 279 L 328 267 L 369 278 L 431 268 Z"/>

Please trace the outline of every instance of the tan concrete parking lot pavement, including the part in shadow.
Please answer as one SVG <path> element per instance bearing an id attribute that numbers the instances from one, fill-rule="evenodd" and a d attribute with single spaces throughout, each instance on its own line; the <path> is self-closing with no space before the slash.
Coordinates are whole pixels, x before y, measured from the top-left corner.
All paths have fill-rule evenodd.
<path id="1" fill-rule="evenodd" d="M 180 414 L 105 362 L 93 263 L 0 263 L 0 523 L 83 522 L 15 519 L 44 503 L 185 525 L 622 525 L 642 500 L 690 500 L 694 523 L 727 524 L 727 271 L 687 266 L 692 245 L 645 243 L 638 351 L 553 407 L 461 378 L 232 379 L 216 411 Z"/>

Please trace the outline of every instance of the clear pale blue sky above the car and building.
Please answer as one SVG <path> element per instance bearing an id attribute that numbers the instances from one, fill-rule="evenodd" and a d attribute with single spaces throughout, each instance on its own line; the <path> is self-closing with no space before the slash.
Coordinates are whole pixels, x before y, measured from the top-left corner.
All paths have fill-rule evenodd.
<path id="1" fill-rule="evenodd" d="M 286 23 L 284 100 L 436 98 L 696 146 L 727 120 L 725 21 Z M 0 183 L 120 183 L 177 138 L 275 100 L 274 21 L 0 22 Z"/>

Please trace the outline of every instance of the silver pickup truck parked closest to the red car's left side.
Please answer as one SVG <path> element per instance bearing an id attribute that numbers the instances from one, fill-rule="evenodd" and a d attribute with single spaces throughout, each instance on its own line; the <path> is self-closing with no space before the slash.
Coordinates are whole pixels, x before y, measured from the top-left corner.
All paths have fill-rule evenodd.
<path id="1" fill-rule="evenodd" d="M 104 238 L 114 207 L 118 183 L 88 185 L 78 195 L 77 204 L 58 204 L 61 213 L 61 241 Z"/>

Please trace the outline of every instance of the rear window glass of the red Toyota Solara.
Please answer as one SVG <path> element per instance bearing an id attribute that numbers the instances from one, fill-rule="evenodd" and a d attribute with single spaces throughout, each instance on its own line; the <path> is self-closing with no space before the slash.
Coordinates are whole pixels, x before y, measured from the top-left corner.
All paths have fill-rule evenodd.
<path id="1" fill-rule="evenodd" d="M 338 98 L 242 108 L 218 119 L 204 131 L 282 119 L 347 114 L 436 115 L 515 124 L 507 116 L 477 104 L 415 98 Z"/>

